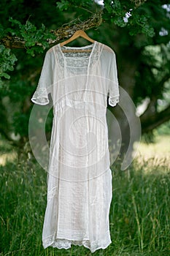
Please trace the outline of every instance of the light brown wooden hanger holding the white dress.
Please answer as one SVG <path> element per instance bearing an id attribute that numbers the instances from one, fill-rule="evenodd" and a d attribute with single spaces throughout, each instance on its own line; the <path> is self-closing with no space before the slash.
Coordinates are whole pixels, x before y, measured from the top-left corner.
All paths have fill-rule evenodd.
<path id="1" fill-rule="evenodd" d="M 88 40 L 88 41 L 90 41 L 90 42 L 94 42 L 94 40 L 93 39 L 91 39 L 90 37 L 88 37 L 88 34 L 86 34 L 85 33 L 85 31 L 83 31 L 83 30 L 77 30 L 73 35 L 72 35 L 72 37 L 70 37 L 69 39 L 67 39 L 66 41 L 63 41 L 63 42 L 61 42 L 61 44 L 60 44 L 60 46 L 62 47 L 63 45 L 66 45 L 66 44 L 68 44 L 69 42 L 72 42 L 72 41 L 74 41 L 75 39 L 77 39 L 78 37 L 82 37 L 82 38 L 84 38 L 84 39 L 86 39 L 86 40 Z M 91 51 L 91 50 L 89 50 L 89 49 L 67 49 L 67 50 L 63 50 L 63 52 L 77 52 L 77 51 L 85 51 L 85 52 L 89 52 L 89 51 Z"/>

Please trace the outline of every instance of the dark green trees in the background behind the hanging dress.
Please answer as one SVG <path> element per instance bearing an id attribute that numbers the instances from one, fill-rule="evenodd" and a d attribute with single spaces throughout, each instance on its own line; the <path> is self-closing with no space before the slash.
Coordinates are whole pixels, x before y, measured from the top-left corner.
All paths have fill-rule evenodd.
<path id="1" fill-rule="evenodd" d="M 167 1 L 3 1 L 0 4 L 0 132 L 22 148 L 28 140 L 31 95 L 45 52 L 77 29 L 115 50 L 120 86 L 136 107 L 142 133 L 169 120 L 170 4 Z M 9 79 L 10 78 L 10 79 Z M 162 104 L 162 105 L 160 105 Z M 128 121 L 116 107 L 128 146 Z M 18 135 L 18 140 L 12 133 Z"/>

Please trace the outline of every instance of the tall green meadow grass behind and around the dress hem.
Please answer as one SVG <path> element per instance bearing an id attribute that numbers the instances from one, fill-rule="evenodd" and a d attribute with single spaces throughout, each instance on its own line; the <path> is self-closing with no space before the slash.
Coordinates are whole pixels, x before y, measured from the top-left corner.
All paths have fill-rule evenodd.
<path id="1" fill-rule="evenodd" d="M 170 170 L 164 160 L 135 161 L 126 171 L 112 168 L 109 224 L 112 244 L 93 254 L 83 246 L 42 247 L 46 173 L 34 161 L 0 167 L 1 256 L 168 256 L 170 255 Z"/>

